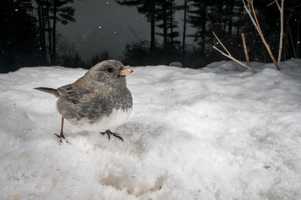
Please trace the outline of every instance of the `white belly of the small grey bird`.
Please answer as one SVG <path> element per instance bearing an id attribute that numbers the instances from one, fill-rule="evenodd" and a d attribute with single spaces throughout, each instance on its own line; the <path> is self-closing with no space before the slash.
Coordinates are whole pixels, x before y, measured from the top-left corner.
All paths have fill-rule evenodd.
<path id="1" fill-rule="evenodd" d="M 126 120 L 129 118 L 131 114 L 132 108 L 126 109 L 126 110 L 115 110 L 113 109 L 113 112 L 110 116 L 105 116 L 101 118 L 100 121 L 94 122 L 93 124 L 90 123 L 90 120 L 88 118 L 82 118 L 79 121 L 66 119 L 74 126 L 91 132 L 104 132 L 106 130 L 109 130 L 113 127 L 119 127 L 123 123 L 126 122 Z"/>

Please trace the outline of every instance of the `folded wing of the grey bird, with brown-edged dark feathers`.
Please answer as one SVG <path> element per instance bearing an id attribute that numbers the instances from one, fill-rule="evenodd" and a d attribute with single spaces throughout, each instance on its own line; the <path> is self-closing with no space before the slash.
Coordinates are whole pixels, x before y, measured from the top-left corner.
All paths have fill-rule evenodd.
<path id="1" fill-rule="evenodd" d="M 57 91 L 64 99 L 71 101 L 73 104 L 79 104 L 79 98 L 82 95 L 93 93 L 93 88 L 84 83 L 80 78 L 74 83 L 57 88 Z"/>

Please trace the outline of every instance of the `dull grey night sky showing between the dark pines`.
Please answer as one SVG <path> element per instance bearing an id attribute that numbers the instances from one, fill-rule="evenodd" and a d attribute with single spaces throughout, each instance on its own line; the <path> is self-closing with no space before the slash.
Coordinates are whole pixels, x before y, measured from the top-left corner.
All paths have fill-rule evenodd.
<path id="1" fill-rule="evenodd" d="M 182 0 L 178 0 L 178 3 L 182 4 Z M 151 24 L 143 14 L 138 13 L 135 6 L 121 6 L 113 0 L 74 1 L 70 5 L 75 9 L 76 23 L 58 23 L 57 31 L 76 44 L 84 60 L 90 60 L 105 49 L 113 59 L 119 60 L 118 56 L 122 55 L 126 43 L 136 39 L 129 27 L 150 41 Z M 183 10 L 178 10 L 175 15 L 179 28 L 174 31 L 180 31 L 178 40 L 182 41 Z M 160 29 L 156 27 L 155 31 L 159 32 Z"/>

